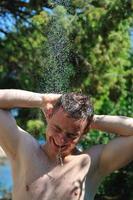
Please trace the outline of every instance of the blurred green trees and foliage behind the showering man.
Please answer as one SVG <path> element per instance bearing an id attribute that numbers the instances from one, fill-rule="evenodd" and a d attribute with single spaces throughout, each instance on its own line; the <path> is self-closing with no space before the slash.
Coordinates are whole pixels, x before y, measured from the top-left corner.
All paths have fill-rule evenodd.
<path id="1" fill-rule="evenodd" d="M 132 0 L 0 2 L 1 89 L 82 91 L 95 113 L 133 117 L 132 54 Z M 44 137 L 39 110 L 17 112 L 20 126 Z M 112 137 L 91 131 L 81 145 Z M 133 163 L 108 176 L 95 199 L 133 200 Z"/>

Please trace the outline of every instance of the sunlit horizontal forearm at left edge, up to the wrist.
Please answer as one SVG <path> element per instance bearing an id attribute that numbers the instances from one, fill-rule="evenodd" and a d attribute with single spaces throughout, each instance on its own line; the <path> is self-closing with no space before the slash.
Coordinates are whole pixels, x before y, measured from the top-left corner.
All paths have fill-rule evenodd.
<path id="1" fill-rule="evenodd" d="M 5 89 L 0 90 L 0 108 L 14 107 L 39 108 L 43 103 L 43 94 L 25 90 Z"/>

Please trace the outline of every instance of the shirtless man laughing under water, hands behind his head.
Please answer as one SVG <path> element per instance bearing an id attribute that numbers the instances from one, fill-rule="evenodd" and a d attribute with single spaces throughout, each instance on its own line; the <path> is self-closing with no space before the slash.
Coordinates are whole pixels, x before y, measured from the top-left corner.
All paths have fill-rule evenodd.
<path id="1" fill-rule="evenodd" d="M 6 111 L 41 108 L 46 144 L 40 146 Z M 101 179 L 133 160 L 133 118 L 94 115 L 87 97 L 0 90 L 0 145 L 12 166 L 13 200 L 93 200 Z M 85 152 L 76 144 L 90 129 L 119 137 Z"/>

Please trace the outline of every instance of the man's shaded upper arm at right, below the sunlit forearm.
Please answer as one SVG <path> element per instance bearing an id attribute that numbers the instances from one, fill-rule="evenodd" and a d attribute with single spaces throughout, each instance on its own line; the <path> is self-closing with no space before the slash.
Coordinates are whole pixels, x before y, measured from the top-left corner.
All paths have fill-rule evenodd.
<path id="1" fill-rule="evenodd" d="M 117 137 L 105 145 L 100 159 L 100 171 L 107 175 L 124 167 L 132 160 L 133 136 Z"/>

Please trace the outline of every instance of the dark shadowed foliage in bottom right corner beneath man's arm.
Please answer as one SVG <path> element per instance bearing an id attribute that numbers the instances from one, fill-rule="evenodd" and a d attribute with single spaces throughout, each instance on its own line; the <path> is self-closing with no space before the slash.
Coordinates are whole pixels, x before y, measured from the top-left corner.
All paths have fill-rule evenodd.
<path id="1" fill-rule="evenodd" d="M 133 192 L 133 164 L 128 165 L 119 171 L 115 171 L 110 176 L 106 177 L 104 184 L 99 188 L 98 194 L 112 199 L 128 199 L 132 200 Z M 107 198 L 107 199 L 108 199 Z"/>

